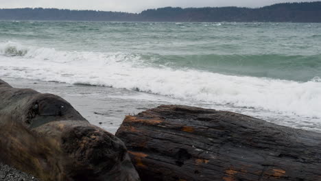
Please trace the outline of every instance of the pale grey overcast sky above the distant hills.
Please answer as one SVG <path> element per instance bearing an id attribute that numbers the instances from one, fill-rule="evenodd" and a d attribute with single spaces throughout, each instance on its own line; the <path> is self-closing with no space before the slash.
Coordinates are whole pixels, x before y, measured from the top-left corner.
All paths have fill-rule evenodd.
<path id="1" fill-rule="evenodd" d="M 141 12 L 150 8 L 174 7 L 261 7 L 283 2 L 310 0 L 0 0 L 0 8 L 66 8 L 73 10 L 106 10 Z M 312 0 L 313 1 L 313 0 Z M 316 0 L 314 0 L 316 1 Z"/>

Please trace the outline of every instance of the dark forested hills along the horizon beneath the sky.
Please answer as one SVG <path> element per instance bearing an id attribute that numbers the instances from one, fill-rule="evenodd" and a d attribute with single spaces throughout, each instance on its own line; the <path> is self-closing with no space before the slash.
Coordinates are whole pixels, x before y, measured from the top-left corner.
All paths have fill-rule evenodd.
<path id="1" fill-rule="evenodd" d="M 321 1 L 278 3 L 263 8 L 158 8 L 139 14 L 43 8 L 0 9 L 1 20 L 38 21 L 179 21 L 321 23 Z"/>

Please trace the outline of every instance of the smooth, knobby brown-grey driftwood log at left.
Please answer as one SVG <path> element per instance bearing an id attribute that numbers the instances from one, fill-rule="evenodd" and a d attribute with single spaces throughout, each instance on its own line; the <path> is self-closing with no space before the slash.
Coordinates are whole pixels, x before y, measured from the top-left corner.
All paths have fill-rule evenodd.
<path id="1" fill-rule="evenodd" d="M 40 180 L 139 180 L 119 138 L 56 95 L 2 80 L 0 160 Z"/>

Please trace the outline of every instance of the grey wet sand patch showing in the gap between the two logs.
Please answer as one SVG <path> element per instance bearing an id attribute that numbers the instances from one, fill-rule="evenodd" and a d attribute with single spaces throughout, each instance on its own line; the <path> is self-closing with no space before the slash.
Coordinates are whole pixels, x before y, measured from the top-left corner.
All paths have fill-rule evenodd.
<path id="1" fill-rule="evenodd" d="M 139 93 L 132 90 L 62 84 L 35 80 L 4 78 L 16 88 L 32 88 L 40 93 L 52 93 L 66 99 L 90 123 L 115 134 L 124 117 L 162 104 L 174 104 L 177 99 Z"/>

